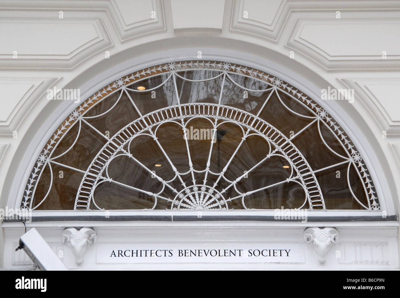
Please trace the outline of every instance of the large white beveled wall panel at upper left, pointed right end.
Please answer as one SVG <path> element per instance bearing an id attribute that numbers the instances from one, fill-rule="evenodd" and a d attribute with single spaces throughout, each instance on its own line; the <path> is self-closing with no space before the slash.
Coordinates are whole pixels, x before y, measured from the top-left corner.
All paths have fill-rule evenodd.
<path id="1" fill-rule="evenodd" d="M 0 52 L 0 67 L 13 70 L 74 68 L 113 45 L 102 21 L 106 14 L 102 14 L 97 12 L 92 17 L 84 12 L 65 11 L 61 20 L 58 10 L 39 10 L 33 14 L 32 11 L 5 11 L 0 8 L 0 37 L 8 41 Z M 9 20 L 10 17 L 13 19 Z M 30 28 L 36 34 L 30 34 Z M 60 35 L 60 32 L 63 34 Z M 46 37 L 46 42 L 43 42 L 43 37 Z"/>

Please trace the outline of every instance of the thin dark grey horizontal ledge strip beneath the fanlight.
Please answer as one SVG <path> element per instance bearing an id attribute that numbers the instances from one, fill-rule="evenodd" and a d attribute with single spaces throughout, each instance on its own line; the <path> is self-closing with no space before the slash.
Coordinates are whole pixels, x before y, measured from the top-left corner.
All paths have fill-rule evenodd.
<path id="1" fill-rule="evenodd" d="M 280 221 L 301 222 L 302 219 L 275 219 L 274 216 L 197 216 L 187 215 L 110 215 L 105 216 L 38 216 L 32 217 L 32 222 L 42 221 Z M 373 222 L 373 221 L 398 221 L 398 215 L 382 216 L 310 216 L 307 222 Z M 4 219 L 4 223 L 21 222 L 18 219 Z"/>

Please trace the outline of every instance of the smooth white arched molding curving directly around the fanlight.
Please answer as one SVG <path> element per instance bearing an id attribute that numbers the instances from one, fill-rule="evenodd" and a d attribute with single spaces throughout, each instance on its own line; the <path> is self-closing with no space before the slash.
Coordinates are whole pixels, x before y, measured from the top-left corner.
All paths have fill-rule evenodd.
<path id="1" fill-rule="evenodd" d="M 177 59 L 179 60 L 196 59 L 197 49 L 198 48 L 172 49 L 172 50 L 160 51 L 156 53 L 143 55 L 140 57 L 132 58 L 128 61 L 125 61 L 124 63 L 115 65 L 114 67 L 109 68 L 106 72 L 101 73 L 100 75 L 94 75 L 94 73 L 96 73 L 95 68 L 89 69 L 88 71 L 85 72 L 85 75 L 87 77 L 92 76 L 93 78 L 89 80 L 87 83 L 83 84 L 82 86 L 79 86 L 80 89 L 82 90 L 81 99 L 82 100 L 86 99 L 96 90 L 98 90 L 99 86 L 101 87 L 106 85 L 106 83 L 109 83 L 110 81 L 113 81 L 118 77 L 120 77 L 121 74 L 126 74 L 129 73 L 130 71 L 153 65 L 155 62 L 164 63 Z M 208 54 L 208 53 L 213 53 L 213 54 Z M 394 205 L 392 200 L 387 199 L 396 197 L 395 195 L 393 195 L 394 193 L 396 193 L 396 189 L 395 189 L 395 184 L 393 183 L 394 180 L 393 177 L 391 176 L 391 173 L 386 173 L 385 175 L 385 172 L 383 171 L 382 165 L 384 165 L 387 162 L 384 160 L 384 158 L 382 160 L 383 156 L 382 152 L 379 152 L 379 150 L 378 152 L 376 152 L 377 151 L 376 148 L 372 148 L 371 144 L 367 141 L 371 140 L 371 138 L 365 137 L 364 133 L 368 134 L 368 130 L 365 129 L 365 126 L 363 126 L 364 124 L 361 121 L 360 121 L 361 125 L 360 124 L 358 125 L 360 125 L 362 129 L 360 129 L 358 125 L 356 125 L 354 121 L 347 116 L 348 113 L 345 112 L 344 109 L 342 109 L 342 107 L 340 107 L 340 104 L 338 104 L 335 101 L 322 102 L 319 99 L 320 90 L 322 89 L 321 87 L 326 87 L 326 86 L 321 86 L 320 88 L 318 88 L 310 81 L 304 79 L 304 77 L 301 77 L 298 74 L 294 73 L 293 71 L 290 71 L 290 69 L 282 67 L 282 65 L 279 65 L 278 63 L 268 61 L 264 58 L 251 55 L 249 53 L 216 49 L 216 48 L 207 48 L 203 49 L 203 59 L 226 60 L 248 65 L 249 67 L 254 67 L 256 69 L 266 71 L 273 75 L 277 75 L 282 79 L 284 79 L 285 81 L 288 81 L 290 84 L 308 93 L 310 97 L 316 100 L 322 107 L 325 107 L 326 110 L 330 114 L 332 114 L 332 116 L 334 116 L 334 118 L 349 134 L 350 138 L 359 148 L 362 155 L 368 156 L 370 158 L 369 161 L 366 160 L 365 162 L 367 163 L 372 178 L 376 183 L 378 196 L 386 199 L 386 203 L 384 201 L 381 201 L 381 207 L 383 210 L 386 210 L 388 214 L 396 213 L 394 211 Z M 324 79 L 319 77 L 317 74 L 314 74 L 314 77 L 316 77 L 315 81 L 324 81 Z M 76 82 L 72 82 L 71 84 L 68 84 L 68 86 L 66 87 L 72 88 L 71 85 L 73 84 L 76 84 Z M 18 201 L 18 198 L 20 198 L 22 194 L 22 189 L 20 185 L 26 182 L 29 174 L 28 172 L 32 168 L 32 165 L 34 164 L 34 161 L 36 160 L 38 154 L 40 153 L 43 144 L 46 142 L 46 140 L 52 134 L 52 132 L 54 132 L 54 129 L 59 125 L 60 119 L 65 118 L 68 115 L 68 113 L 72 110 L 73 105 L 74 104 L 71 102 L 70 103 L 62 102 L 58 105 L 58 107 L 54 111 L 48 112 L 49 116 L 46 120 L 40 121 L 40 119 L 37 119 L 35 124 L 39 124 L 40 122 L 42 122 L 41 127 L 39 129 L 35 129 L 34 125 L 34 127 L 32 127 L 30 132 L 30 135 L 32 135 L 33 138 L 30 140 L 30 142 L 28 141 L 28 139 L 26 139 L 23 140 L 23 142 L 20 144 L 20 148 L 18 148 L 19 152 L 14 156 L 14 160 L 12 161 L 12 164 L 9 168 L 9 175 L 7 175 L 7 180 L 10 179 L 10 183 L 5 184 L 5 185 L 11 185 L 11 187 L 10 188 L 4 187 L 2 192 L 2 197 L 9 194 L 7 195 L 7 197 L 9 198 L 8 201 L 9 206 L 14 205 L 15 207 L 17 207 L 18 203 L 16 203 L 16 201 Z M 45 110 L 46 109 L 43 110 L 43 114 L 46 114 Z M 355 116 L 356 117 L 354 117 L 354 119 L 357 119 L 357 114 L 355 114 Z M 360 118 L 362 117 L 358 115 L 358 118 L 359 119 L 357 120 L 361 120 Z M 32 132 L 36 133 L 33 134 Z M 38 140 L 40 141 L 38 142 Z M 30 148 L 30 150 L 27 150 L 27 148 Z M 377 156 L 380 156 L 381 160 L 376 158 Z M 15 171 L 14 169 L 17 170 Z M 390 184 L 392 186 L 390 186 Z"/>

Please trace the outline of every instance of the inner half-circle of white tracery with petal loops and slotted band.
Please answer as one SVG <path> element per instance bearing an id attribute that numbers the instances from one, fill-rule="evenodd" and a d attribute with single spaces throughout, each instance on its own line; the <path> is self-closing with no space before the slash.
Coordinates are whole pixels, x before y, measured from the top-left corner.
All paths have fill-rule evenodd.
<path id="1" fill-rule="evenodd" d="M 191 164 L 190 152 L 189 152 L 188 147 L 186 147 L 186 149 L 188 151 L 190 171 L 186 172 L 186 173 L 179 173 L 178 170 L 176 169 L 176 167 L 174 166 L 174 164 L 168 158 L 168 156 L 165 153 L 164 149 L 162 148 L 161 144 L 158 142 L 157 136 L 156 136 L 156 131 L 157 131 L 157 128 L 161 124 L 163 124 L 167 121 L 172 121 L 172 120 L 177 120 L 177 119 L 182 121 L 182 129 L 184 129 L 186 127 L 187 123 L 185 124 L 183 119 L 187 118 L 187 117 L 190 117 L 191 119 L 193 119 L 193 117 L 214 118 L 215 120 L 212 121 L 212 123 L 214 124 L 213 138 L 215 138 L 216 130 L 218 127 L 218 125 L 216 124 L 218 119 L 222 119 L 225 122 L 240 123 L 242 126 L 246 127 L 247 131 L 244 132 L 244 130 L 243 130 L 244 135 L 242 138 L 242 142 L 244 142 L 246 140 L 246 137 L 248 137 L 250 135 L 250 133 L 249 133 L 250 130 L 257 131 L 258 134 L 261 134 L 266 140 L 268 140 L 269 143 L 272 143 L 272 145 L 275 147 L 274 150 L 271 151 L 272 148 L 270 146 L 270 152 L 268 152 L 268 154 L 266 154 L 266 157 L 264 158 L 264 160 L 262 160 L 258 164 L 262 164 L 262 162 L 264 162 L 271 156 L 282 156 L 290 163 L 290 167 L 292 168 L 290 177 L 282 182 L 272 184 L 269 186 L 265 186 L 261 189 L 252 190 L 247 193 L 241 193 L 235 187 L 235 184 L 240 179 L 242 179 L 245 174 L 236 178 L 236 180 L 234 180 L 234 181 L 226 179 L 224 177 L 224 173 L 226 172 L 230 162 L 228 162 L 228 164 L 224 167 L 224 169 L 220 173 L 214 173 L 214 172 L 210 171 L 210 154 L 208 156 L 207 168 L 202 171 L 194 170 L 193 166 Z M 316 118 L 316 120 L 317 119 L 318 118 Z M 224 122 L 222 122 L 222 123 L 224 123 Z M 153 133 L 152 128 L 154 128 L 154 127 L 156 127 L 156 128 L 155 128 L 155 132 Z M 104 183 L 106 181 L 114 182 L 112 180 L 112 178 L 110 178 L 108 176 L 107 168 L 110 165 L 110 163 L 112 162 L 112 160 L 114 158 L 116 158 L 117 156 L 121 156 L 121 155 L 129 156 L 135 162 L 140 164 L 140 166 L 142 166 L 146 171 L 151 172 L 150 169 L 146 168 L 146 166 L 144 166 L 139 160 L 134 158 L 132 156 L 131 152 L 129 152 L 129 150 L 128 150 L 128 152 L 120 153 L 121 151 L 124 151 L 123 147 L 125 144 L 132 142 L 132 140 L 138 136 L 146 134 L 145 133 L 146 131 L 150 131 L 150 135 L 154 138 L 154 141 L 157 143 L 157 145 L 160 147 L 162 152 L 165 154 L 165 157 L 168 160 L 168 162 L 170 163 L 170 166 L 172 167 L 176 176 L 174 177 L 174 179 L 172 179 L 170 181 L 165 181 L 161 177 L 157 176 L 156 174 L 153 174 L 163 184 L 163 188 L 159 193 L 151 193 L 149 191 L 143 191 L 142 189 L 138 189 L 133 186 L 127 186 L 127 185 L 121 185 L 121 186 L 128 187 L 128 188 L 134 189 L 136 191 L 146 193 L 147 195 L 153 196 L 154 197 L 153 208 L 156 207 L 157 199 L 159 198 L 159 199 L 165 199 L 165 200 L 171 202 L 172 203 L 171 208 L 174 209 L 175 202 L 170 198 L 160 196 L 160 193 L 162 193 L 162 191 L 164 190 L 164 187 L 170 187 L 172 189 L 172 191 L 174 191 L 175 193 L 178 193 L 178 191 L 176 189 L 174 189 L 172 186 L 170 186 L 170 184 L 168 184 L 169 182 L 172 182 L 176 178 L 179 179 L 182 186 L 185 187 L 185 189 L 187 189 L 187 186 L 186 186 L 187 182 L 184 182 L 182 180 L 182 176 L 189 174 L 189 173 L 192 174 L 193 185 L 197 186 L 196 181 L 194 181 L 194 176 L 193 176 L 194 172 L 197 172 L 197 173 L 204 172 L 205 177 L 204 177 L 204 184 L 202 186 L 207 187 L 208 189 L 214 189 L 217 186 L 219 180 L 222 178 L 224 180 L 226 180 L 226 182 L 230 183 L 230 187 L 233 186 L 235 188 L 236 192 L 238 192 L 238 196 L 229 198 L 227 200 L 223 199 L 223 197 L 222 197 L 222 200 L 223 200 L 222 204 L 224 204 L 226 201 L 232 201 L 234 199 L 242 199 L 242 205 L 243 205 L 244 209 L 247 209 L 247 207 L 244 204 L 244 197 L 246 195 L 250 195 L 251 193 L 254 193 L 256 191 L 260 191 L 262 189 L 267 189 L 272 186 L 276 186 L 279 184 L 288 183 L 288 182 L 292 181 L 292 182 L 299 183 L 304 188 L 304 190 L 306 191 L 306 199 L 308 198 L 310 206 L 312 206 L 312 208 L 317 207 L 317 206 L 322 206 L 323 208 L 325 207 L 324 201 L 323 201 L 323 198 L 321 195 L 320 187 L 318 185 L 318 182 L 315 178 L 315 175 L 314 175 L 312 169 L 310 168 L 310 166 L 308 165 L 307 161 L 302 156 L 302 154 L 298 151 L 298 149 L 292 144 L 292 142 L 290 142 L 290 139 L 286 138 L 276 128 L 274 128 L 273 126 L 268 124 L 266 121 L 264 121 L 260 118 L 257 118 L 256 116 L 254 116 L 248 112 L 240 111 L 238 109 L 234 109 L 231 107 L 222 107 L 220 105 L 213 105 L 213 104 L 186 104 L 186 105 L 177 105 L 177 106 L 173 106 L 173 107 L 168 107 L 168 108 L 165 108 L 165 109 L 162 109 L 159 111 L 152 112 L 145 116 L 142 116 L 138 120 L 135 120 L 134 122 L 132 122 L 129 125 L 122 128 L 120 130 L 120 132 L 118 132 L 115 136 L 110 138 L 110 140 L 106 143 L 106 145 L 104 145 L 102 150 L 100 150 L 100 152 L 98 152 L 96 157 L 93 159 L 92 164 L 89 166 L 88 170 L 85 173 L 84 178 L 82 179 L 82 182 L 80 184 L 80 187 L 79 187 L 79 190 L 78 190 L 78 193 L 76 196 L 75 209 L 84 208 L 87 210 L 89 208 L 90 200 L 92 200 L 94 205 L 96 205 L 96 202 L 94 200 L 94 195 L 93 195 L 94 190 L 96 189 L 96 186 L 100 183 Z M 296 134 L 296 135 L 298 135 L 298 134 Z M 295 136 L 293 136 L 291 139 L 293 139 L 294 137 Z M 235 153 L 232 154 L 230 161 L 232 161 L 234 155 L 236 154 L 236 152 L 239 149 L 242 142 L 236 148 Z M 210 141 L 210 152 L 211 152 L 211 149 L 213 146 L 212 144 L 213 144 L 213 140 Z M 186 146 L 187 146 L 187 140 L 186 140 Z M 129 149 L 129 146 L 128 146 L 128 149 Z M 251 169 L 248 169 L 247 173 L 254 170 L 254 168 L 256 168 L 256 166 L 254 166 Z M 102 176 L 102 173 L 104 172 L 104 170 L 106 170 L 106 177 Z M 294 174 L 293 170 L 296 170 L 296 173 L 299 173 L 296 177 L 293 177 L 293 174 Z M 218 178 L 217 178 L 216 182 L 214 183 L 214 185 L 212 186 L 212 188 L 208 187 L 205 184 L 205 181 L 207 180 L 207 176 L 209 174 L 218 176 Z M 101 181 L 99 182 L 99 180 L 101 180 Z M 118 182 L 115 182 L 115 183 L 118 183 Z M 223 189 L 220 193 L 224 193 L 225 190 L 226 189 Z M 178 194 L 180 194 L 180 193 L 181 192 L 179 192 Z M 202 194 L 204 194 L 204 191 L 202 192 Z M 204 199 L 208 199 L 208 198 L 210 198 L 210 196 L 206 196 L 206 198 L 204 198 Z M 176 198 L 175 198 L 175 200 L 176 200 Z M 187 209 L 196 209 L 194 207 L 194 205 L 190 204 L 188 201 L 186 201 L 186 202 L 189 204 L 189 205 L 186 205 Z M 220 203 L 220 202 L 218 202 L 218 203 Z M 304 201 L 304 203 L 306 203 L 306 200 Z M 304 203 L 303 203 L 303 205 L 301 205 L 299 207 L 304 206 Z M 180 205 L 178 205 L 178 206 L 180 206 Z M 98 207 L 98 206 L 96 205 L 96 207 Z M 219 207 L 219 209 L 224 209 L 221 204 L 218 204 L 218 207 Z M 98 209 L 101 209 L 101 208 L 98 207 Z M 215 209 L 217 209 L 217 208 L 215 208 Z"/>

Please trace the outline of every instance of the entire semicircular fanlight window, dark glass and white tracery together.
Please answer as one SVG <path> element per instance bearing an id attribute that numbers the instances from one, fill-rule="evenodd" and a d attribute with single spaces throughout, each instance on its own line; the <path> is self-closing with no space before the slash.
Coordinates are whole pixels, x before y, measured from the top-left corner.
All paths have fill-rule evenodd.
<path id="1" fill-rule="evenodd" d="M 44 146 L 21 208 L 380 209 L 344 131 L 298 89 L 228 62 L 122 77 Z"/>

